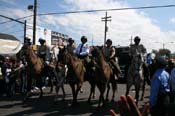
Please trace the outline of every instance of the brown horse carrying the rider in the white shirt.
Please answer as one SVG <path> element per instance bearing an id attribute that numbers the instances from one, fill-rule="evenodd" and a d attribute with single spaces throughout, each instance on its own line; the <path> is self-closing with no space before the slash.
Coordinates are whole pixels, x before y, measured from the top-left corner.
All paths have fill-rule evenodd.
<path id="1" fill-rule="evenodd" d="M 78 92 L 80 91 L 85 76 L 85 68 L 82 60 L 70 54 L 66 48 L 63 48 L 60 53 L 60 62 L 68 66 L 67 81 L 72 89 L 73 102 L 72 106 L 76 105 Z M 77 87 L 76 87 L 77 86 Z"/>

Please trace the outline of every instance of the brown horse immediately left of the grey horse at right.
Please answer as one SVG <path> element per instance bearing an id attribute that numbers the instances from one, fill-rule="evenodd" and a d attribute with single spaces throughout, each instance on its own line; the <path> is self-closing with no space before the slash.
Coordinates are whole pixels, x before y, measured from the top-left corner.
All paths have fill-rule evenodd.
<path id="1" fill-rule="evenodd" d="M 105 61 L 104 55 L 102 51 L 98 47 L 94 47 L 91 51 L 92 57 L 95 59 L 95 82 L 97 85 L 97 88 L 100 91 L 100 96 L 99 96 L 99 102 L 97 108 L 101 107 L 101 103 L 103 102 L 103 106 L 105 105 L 105 100 L 104 100 L 104 93 L 106 88 L 107 94 L 106 94 L 106 99 L 108 99 L 108 94 L 109 94 L 109 82 L 115 78 L 114 74 L 112 72 L 112 69 L 110 65 Z M 112 83 L 112 88 L 113 88 L 113 96 L 112 100 L 115 97 L 115 91 L 116 91 L 116 83 Z"/>

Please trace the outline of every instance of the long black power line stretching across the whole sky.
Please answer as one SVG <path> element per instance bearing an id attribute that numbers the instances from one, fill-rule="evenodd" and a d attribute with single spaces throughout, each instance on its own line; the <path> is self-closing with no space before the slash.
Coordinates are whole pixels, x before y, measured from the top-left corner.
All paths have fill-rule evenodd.
<path id="1" fill-rule="evenodd" d="M 126 7 L 126 8 L 114 8 L 114 9 L 100 9 L 100 10 L 80 10 L 80 11 L 69 11 L 69 12 L 55 12 L 55 13 L 41 13 L 38 14 L 37 16 L 43 16 L 43 15 L 59 15 L 59 14 L 74 14 L 74 13 L 88 13 L 88 12 L 104 12 L 104 11 L 118 11 L 118 10 L 134 10 L 134 9 L 155 9 L 155 8 L 170 8 L 170 7 L 175 7 L 174 4 L 172 5 L 160 5 L 160 6 L 146 6 L 146 7 Z M 17 18 L 15 20 L 21 20 L 21 19 L 26 19 L 29 17 L 32 17 L 33 15 L 28 15 L 25 17 Z M 0 24 L 5 24 L 8 22 L 12 21 L 6 21 L 6 22 L 1 22 Z"/>

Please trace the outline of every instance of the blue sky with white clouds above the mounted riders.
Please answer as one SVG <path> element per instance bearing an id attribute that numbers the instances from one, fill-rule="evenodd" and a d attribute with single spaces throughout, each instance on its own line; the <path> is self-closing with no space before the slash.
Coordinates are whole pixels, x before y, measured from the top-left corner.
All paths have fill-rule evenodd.
<path id="1" fill-rule="evenodd" d="M 116 9 L 130 7 L 175 5 L 175 0 L 37 0 L 37 14 L 70 12 L 79 10 Z M 32 15 L 27 9 L 34 0 L 0 0 L 0 15 L 14 19 Z M 147 51 L 152 49 L 170 49 L 175 52 L 175 7 L 157 9 L 139 9 L 108 11 L 111 21 L 108 22 L 107 39 L 114 46 L 128 46 L 131 38 L 139 36 L 141 44 Z M 104 22 L 103 12 L 74 13 L 37 16 L 37 25 L 61 32 L 80 43 L 82 35 L 87 36 L 89 45 L 103 45 Z M 33 17 L 27 19 L 32 24 Z M 0 32 L 12 33 L 23 41 L 23 25 L 8 22 L 0 17 Z M 24 19 L 20 20 L 24 21 Z M 3 23 L 3 24 L 1 24 Z M 18 29 L 19 28 L 19 31 Z M 16 31 L 16 32 L 15 32 Z"/>

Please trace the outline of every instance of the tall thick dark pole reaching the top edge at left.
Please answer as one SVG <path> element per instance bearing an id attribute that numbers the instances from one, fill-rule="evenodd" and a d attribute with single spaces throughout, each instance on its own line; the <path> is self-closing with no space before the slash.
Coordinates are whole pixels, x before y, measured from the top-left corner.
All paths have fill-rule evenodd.
<path id="1" fill-rule="evenodd" d="M 33 44 L 34 45 L 36 40 L 36 15 L 37 15 L 37 0 L 34 0 L 34 9 L 33 9 Z"/>

